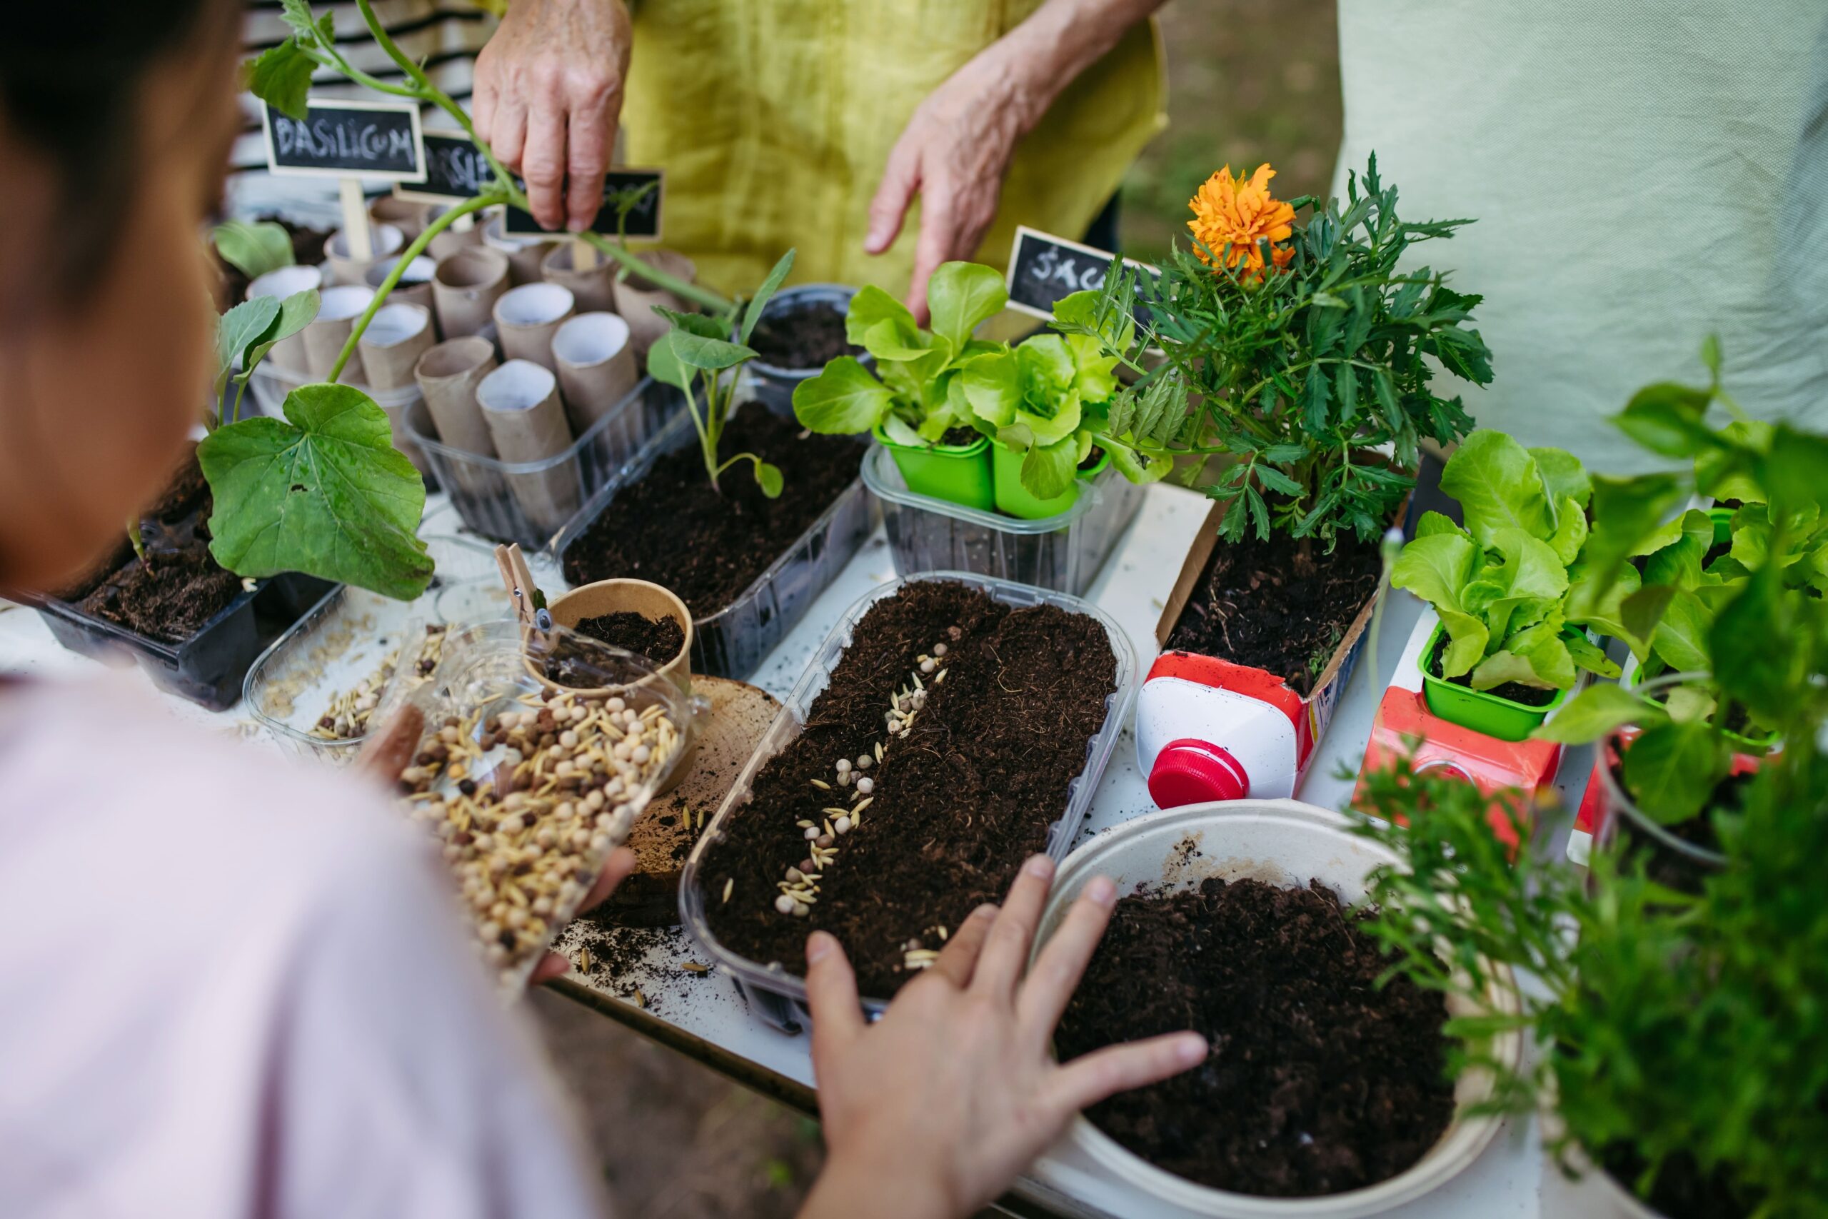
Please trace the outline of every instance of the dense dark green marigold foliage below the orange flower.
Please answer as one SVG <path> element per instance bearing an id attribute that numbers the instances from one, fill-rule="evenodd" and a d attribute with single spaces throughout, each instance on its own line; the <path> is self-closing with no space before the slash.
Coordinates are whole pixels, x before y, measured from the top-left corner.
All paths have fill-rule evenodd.
<path id="1" fill-rule="evenodd" d="M 1119 468 L 1159 477 L 1181 462 L 1194 482 L 1223 455 L 1205 490 L 1230 501 L 1227 539 L 1281 530 L 1327 548 L 1342 532 L 1369 543 L 1413 486 L 1420 440 L 1472 428 L 1459 398 L 1431 389 L 1433 366 L 1492 380 L 1468 325 L 1481 298 L 1428 267 L 1398 270 L 1415 245 L 1470 221 L 1400 219 L 1376 157 L 1347 179 L 1344 207 L 1302 197 L 1287 208 L 1307 221 L 1287 239 L 1261 238 L 1256 258 L 1214 238 L 1174 250 L 1159 278 L 1113 261 L 1097 298 L 1068 298 L 1053 327 L 1099 340 L 1137 375 L 1093 437 Z M 1386 446 L 1393 461 L 1376 451 Z"/>

